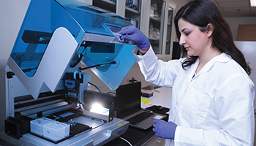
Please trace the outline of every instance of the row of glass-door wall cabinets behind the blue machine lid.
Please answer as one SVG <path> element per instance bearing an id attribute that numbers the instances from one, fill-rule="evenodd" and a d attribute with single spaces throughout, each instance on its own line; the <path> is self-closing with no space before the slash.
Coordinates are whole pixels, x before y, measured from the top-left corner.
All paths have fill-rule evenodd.
<path id="1" fill-rule="evenodd" d="M 115 12 L 129 20 L 148 37 L 154 53 L 170 60 L 175 35 L 173 15 L 176 4 L 170 0 L 80 0 Z"/>

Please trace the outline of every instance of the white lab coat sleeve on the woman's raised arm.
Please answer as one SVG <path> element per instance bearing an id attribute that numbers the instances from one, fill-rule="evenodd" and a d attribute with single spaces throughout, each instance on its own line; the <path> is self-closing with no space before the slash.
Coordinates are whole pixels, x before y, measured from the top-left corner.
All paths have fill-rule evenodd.
<path id="1" fill-rule="evenodd" d="M 182 59 L 167 62 L 158 60 L 151 46 L 145 55 L 136 55 L 137 51 L 138 47 L 133 50 L 133 53 L 145 80 L 154 85 L 173 87 L 178 70 L 181 69 Z"/>

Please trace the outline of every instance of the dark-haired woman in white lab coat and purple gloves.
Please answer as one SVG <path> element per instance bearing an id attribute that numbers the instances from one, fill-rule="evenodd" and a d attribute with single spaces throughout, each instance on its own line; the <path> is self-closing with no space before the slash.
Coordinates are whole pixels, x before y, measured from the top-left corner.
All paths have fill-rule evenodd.
<path id="1" fill-rule="evenodd" d="M 253 145 L 251 69 L 219 9 L 208 0 L 190 1 L 175 26 L 187 57 L 168 62 L 157 60 L 134 26 L 119 32 L 138 45 L 133 51 L 146 80 L 173 88 L 169 122 L 154 120 L 153 131 L 165 145 Z"/>

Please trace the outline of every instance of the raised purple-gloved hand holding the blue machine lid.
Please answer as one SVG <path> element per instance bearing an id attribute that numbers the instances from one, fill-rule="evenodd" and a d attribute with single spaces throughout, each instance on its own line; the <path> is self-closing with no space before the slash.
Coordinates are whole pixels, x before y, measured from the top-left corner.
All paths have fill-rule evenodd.
<path id="1" fill-rule="evenodd" d="M 125 41 L 130 40 L 132 42 L 135 42 L 142 50 L 146 50 L 150 46 L 148 38 L 133 25 L 121 28 L 121 31 L 117 33 L 123 35 L 120 37 L 121 40 L 124 39 Z"/>

